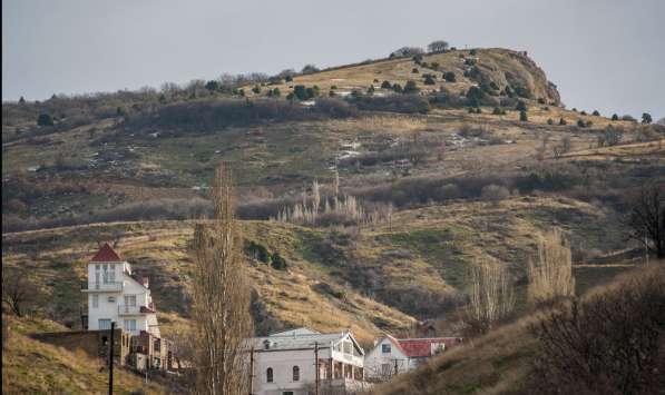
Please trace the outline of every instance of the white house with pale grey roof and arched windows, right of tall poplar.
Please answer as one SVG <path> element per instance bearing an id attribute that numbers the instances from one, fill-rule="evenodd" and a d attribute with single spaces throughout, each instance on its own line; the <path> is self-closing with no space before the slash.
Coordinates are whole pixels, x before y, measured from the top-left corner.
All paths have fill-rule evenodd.
<path id="1" fill-rule="evenodd" d="M 252 342 L 252 394 L 307 395 L 316 385 L 340 391 L 366 385 L 364 352 L 351 332 L 321 334 L 299 328 Z"/>

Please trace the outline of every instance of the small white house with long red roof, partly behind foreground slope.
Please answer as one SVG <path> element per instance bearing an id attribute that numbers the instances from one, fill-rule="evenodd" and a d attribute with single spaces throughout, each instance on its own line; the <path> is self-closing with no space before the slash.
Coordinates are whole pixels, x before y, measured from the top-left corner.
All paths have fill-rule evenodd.
<path id="1" fill-rule="evenodd" d="M 461 343 L 459 337 L 394 338 L 384 335 L 365 354 L 365 377 L 380 382 L 418 367 L 423 361 Z"/>

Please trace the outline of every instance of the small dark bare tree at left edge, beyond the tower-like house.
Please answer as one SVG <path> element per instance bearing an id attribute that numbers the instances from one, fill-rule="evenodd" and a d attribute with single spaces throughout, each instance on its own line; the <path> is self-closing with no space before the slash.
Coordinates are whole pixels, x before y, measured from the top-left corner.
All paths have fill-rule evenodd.
<path id="1" fill-rule="evenodd" d="M 41 300 L 41 292 L 28 277 L 28 270 L 17 267 L 2 267 L 2 303 L 22 317 Z"/>

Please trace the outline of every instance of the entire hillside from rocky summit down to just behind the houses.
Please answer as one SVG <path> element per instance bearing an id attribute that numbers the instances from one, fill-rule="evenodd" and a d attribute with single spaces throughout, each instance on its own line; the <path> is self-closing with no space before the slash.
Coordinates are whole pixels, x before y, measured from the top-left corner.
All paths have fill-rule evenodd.
<path id="1" fill-rule="evenodd" d="M 663 127 L 566 109 L 503 49 L 290 78 L 3 102 L 3 269 L 23 269 L 51 300 L 39 314 L 76 327 L 85 264 L 117 240 L 176 334 L 190 319 L 193 218 L 209 213 L 221 161 L 238 185 L 260 334 L 349 328 L 369 345 L 446 320 L 485 257 L 509 268 L 525 310 L 526 265 L 551 227 L 570 240 L 578 294 L 634 265 L 617 263 L 634 254 L 624 218 L 630 194 L 665 180 Z"/>

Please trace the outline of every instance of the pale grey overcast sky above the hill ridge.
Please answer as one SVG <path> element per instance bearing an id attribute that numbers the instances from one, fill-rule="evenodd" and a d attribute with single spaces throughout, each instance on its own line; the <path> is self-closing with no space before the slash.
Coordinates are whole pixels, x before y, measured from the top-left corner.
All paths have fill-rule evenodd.
<path id="1" fill-rule="evenodd" d="M 275 73 L 444 39 L 527 50 L 568 107 L 665 116 L 665 0 L 2 0 L 2 99 Z"/>

